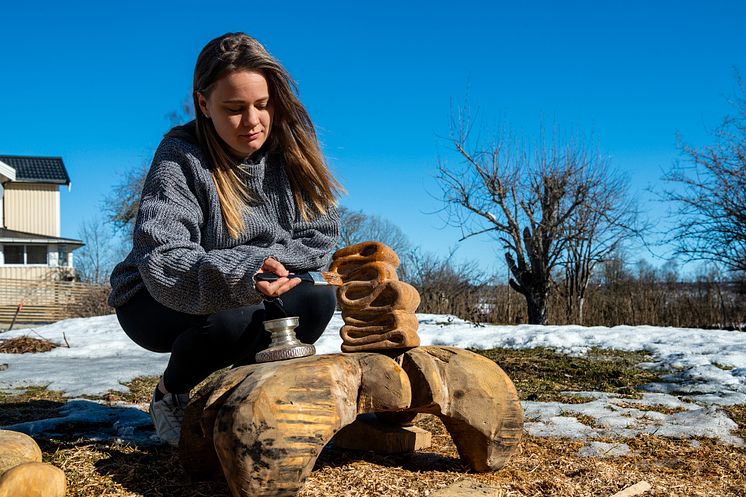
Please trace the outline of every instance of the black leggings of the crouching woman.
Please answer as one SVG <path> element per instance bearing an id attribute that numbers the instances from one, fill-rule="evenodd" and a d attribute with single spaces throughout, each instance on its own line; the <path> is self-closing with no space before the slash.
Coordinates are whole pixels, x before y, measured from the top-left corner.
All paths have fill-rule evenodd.
<path id="1" fill-rule="evenodd" d="M 248 305 L 210 315 L 175 311 L 156 302 L 141 290 L 117 308 L 124 332 L 139 346 L 153 352 L 171 352 L 163 382 L 172 393 L 186 393 L 218 369 L 231 364 L 251 364 L 254 355 L 269 346 L 267 319 L 298 316 L 296 335 L 303 343 L 314 343 L 334 314 L 333 287 L 307 283 L 292 288 L 272 301 Z"/>

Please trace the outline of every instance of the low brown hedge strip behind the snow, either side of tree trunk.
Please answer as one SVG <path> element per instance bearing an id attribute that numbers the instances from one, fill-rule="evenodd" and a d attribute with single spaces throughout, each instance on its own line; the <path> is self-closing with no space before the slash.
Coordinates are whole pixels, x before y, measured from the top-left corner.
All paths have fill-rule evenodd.
<path id="1" fill-rule="evenodd" d="M 596 282 L 588 290 L 585 326 L 650 325 L 746 331 L 746 286 L 716 275 L 666 280 L 656 273 Z M 526 323 L 526 305 L 508 285 L 418 287 L 418 312 L 454 314 L 481 323 Z M 578 324 L 561 282 L 549 299 L 550 324 Z"/>

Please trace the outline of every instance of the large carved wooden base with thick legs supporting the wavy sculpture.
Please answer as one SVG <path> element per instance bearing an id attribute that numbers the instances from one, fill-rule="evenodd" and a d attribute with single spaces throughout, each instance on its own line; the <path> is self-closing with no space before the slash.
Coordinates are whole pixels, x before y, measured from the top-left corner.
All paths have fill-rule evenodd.
<path id="1" fill-rule="evenodd" d="M 196 479 L 224 475 L 235 497 L 293 496 L 334 434 L 369 412 L 439 416 L 475 471 L 502 468 L 523 426 L 513 383 L 473 352 L 322 355 L 240 366 L 205 385 L 186 409 L 182 462 Z"/>

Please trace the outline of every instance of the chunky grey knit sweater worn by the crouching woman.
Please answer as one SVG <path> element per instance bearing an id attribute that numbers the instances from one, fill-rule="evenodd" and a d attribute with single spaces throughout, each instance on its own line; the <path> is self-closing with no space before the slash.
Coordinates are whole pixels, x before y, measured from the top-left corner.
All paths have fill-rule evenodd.
<path id="1" fill-rule="evenodd" d="M 242 167 L 254 202 L 246 230 L 234 240 L 200 147 L 164 138 L 145 179 L 132 251 L 111 275 L 109 305 L 119 307 L 147 288 L 167 307 L 211 314 L 261 300 L 253 275 L 267 257 L 291 272 L 328 264 L 339 235 L 336 209 L 304 222 L 281 163 L 263 156 Z"/>

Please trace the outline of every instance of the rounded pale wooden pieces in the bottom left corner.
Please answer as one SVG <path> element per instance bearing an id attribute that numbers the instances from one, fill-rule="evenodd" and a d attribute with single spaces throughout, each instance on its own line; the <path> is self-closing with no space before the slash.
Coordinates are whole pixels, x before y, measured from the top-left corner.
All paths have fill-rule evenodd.
<path id="1" fill-rule="evenodd" d="M 0 497 L 63 497 L 66 486 L 61 469 L 41 462 L 33 438 L 0 430 Z"/>

